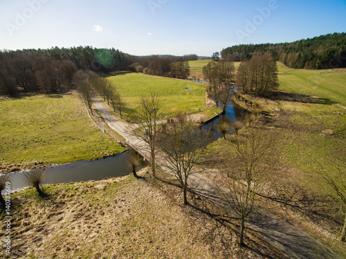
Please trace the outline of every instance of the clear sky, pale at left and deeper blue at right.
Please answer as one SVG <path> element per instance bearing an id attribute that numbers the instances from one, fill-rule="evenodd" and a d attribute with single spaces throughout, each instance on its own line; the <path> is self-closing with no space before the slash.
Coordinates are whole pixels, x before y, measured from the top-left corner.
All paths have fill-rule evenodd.
<path id="1" fill-rule="evenodd" d="M 346 32 L 346 0 L 0 0 L 0 50 L 92 46 L 211 56 Z"/>

